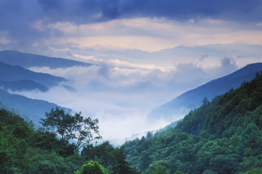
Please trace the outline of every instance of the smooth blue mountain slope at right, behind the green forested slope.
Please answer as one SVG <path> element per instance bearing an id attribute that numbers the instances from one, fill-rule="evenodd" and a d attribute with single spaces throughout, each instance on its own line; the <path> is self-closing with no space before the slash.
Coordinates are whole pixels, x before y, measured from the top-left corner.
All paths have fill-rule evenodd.
<path id="1" fill-rule="evenodd" d="M 198 88 L 187 91 L 173 100 L 152 110 L 151 118 L 164 117 L 170 119 L 181 110 L 188 111 L 201 105 L 206 96 L 209 100 L 221 95 L 231 88 L 239 87 L 243 81 L 250 81 L 255 77 L 256 71 L 262 70 L 262 63 L 249 64 L 234 73 L 212 80 Z"/>

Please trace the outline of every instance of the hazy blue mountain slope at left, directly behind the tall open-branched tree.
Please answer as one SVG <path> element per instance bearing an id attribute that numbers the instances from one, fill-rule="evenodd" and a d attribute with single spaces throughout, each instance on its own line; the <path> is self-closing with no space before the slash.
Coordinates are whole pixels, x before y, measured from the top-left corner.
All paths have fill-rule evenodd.
<path id="1" fill-rule="evenodd" d="M 44 100 L 30 99 L 23 95 L 9 94 L 3 89 L 0 89 L 0 109 L 4 108 L 19 114 L 25 120 L 33 120 L 38 123 L 40 118 L 45 117 L 45 112 L 56 107 L 63 109 L 65 112 L 72 113 L 71 109 L 58 106 L 54 103 L 49 103 Z"/>

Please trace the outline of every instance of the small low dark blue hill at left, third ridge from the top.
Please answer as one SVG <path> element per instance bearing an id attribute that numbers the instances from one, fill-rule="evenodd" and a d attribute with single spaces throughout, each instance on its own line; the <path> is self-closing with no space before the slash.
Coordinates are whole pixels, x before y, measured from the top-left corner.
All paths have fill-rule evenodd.
<path id="1" fill-rule="evenodd" d="M 18 80 L 18 81 L 2 81 L 0 80 L 0 87 L 4 90 L 11 89 L 12 91 L 32 91 L 38 89 L 41 92 L 48 91 L 48 88 L 33 80 Z"/>

